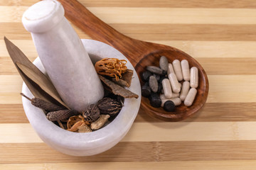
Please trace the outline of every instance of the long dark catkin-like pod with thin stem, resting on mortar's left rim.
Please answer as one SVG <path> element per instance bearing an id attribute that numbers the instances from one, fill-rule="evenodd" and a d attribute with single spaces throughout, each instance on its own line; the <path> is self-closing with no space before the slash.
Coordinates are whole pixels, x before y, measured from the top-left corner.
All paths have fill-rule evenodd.
<path id="1" fill-rule="evenodd" d="M 58 106 L 53 103 L 50 103 L 48 101 L 43 101 L 40 98 L 28 98 L 28 96 L 26 96 L 25 94 L 22 94 L 22 93 L 21 93 L 21 96 L 23 96 L 23 97 L 27 98 L 29 101 L 31 101 L 31 104 L 33 106 L 36 106 L 37 108 L 42 108 L 43 110 L 46 110 L 46 111 L 51 112 L 51 111 L 60 111 L 60 110 L 67 109 L 62 106 Z"/>

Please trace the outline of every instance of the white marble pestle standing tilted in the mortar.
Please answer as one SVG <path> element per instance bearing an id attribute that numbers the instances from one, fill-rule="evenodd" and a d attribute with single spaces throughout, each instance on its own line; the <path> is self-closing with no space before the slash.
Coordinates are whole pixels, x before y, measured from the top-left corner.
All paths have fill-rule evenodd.
<path id="1" fill-rule="evenodd" d="M 39 1 L 25 13 L 23 26 L 63 101 L 76 111 L 97 103 L 104 89 L 78 34 L 55 0 Z"/>

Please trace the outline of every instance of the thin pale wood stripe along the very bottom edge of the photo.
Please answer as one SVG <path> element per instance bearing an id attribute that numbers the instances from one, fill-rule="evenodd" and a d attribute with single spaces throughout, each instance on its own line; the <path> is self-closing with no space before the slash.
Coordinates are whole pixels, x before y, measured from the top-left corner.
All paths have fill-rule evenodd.
<path id="1" fill-rule="evenodd" d="M 104 164 L 104 166 L 102 166 Z M 0 164 L 0 169 L 16 170 L 42 170 L 42 169 L 76 169 L 84 170 L 119 170 L 122 169 L 140 169 L 140 170 L 166 170 L 169 167 L 175 167 L 176 170 L 255 170 L 256 161 L 235 160 L 235 161 L 189 161 L 189 162 L 87 162 L 87 163 L 55 163 L 55 164 Z"/>

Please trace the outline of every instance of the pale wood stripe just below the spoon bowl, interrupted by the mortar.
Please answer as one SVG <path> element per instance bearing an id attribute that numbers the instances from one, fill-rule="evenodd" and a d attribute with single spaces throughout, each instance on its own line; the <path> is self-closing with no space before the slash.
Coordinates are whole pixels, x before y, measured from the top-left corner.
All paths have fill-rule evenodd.
<path id="1" fill-rule="evenodd" d="M 134 123 L 122 142 L 256 140 L 255 128 L 255 122 Z M 1 123 L 0 129 L 0 143 L 43 142 L 29 123 Z"/>

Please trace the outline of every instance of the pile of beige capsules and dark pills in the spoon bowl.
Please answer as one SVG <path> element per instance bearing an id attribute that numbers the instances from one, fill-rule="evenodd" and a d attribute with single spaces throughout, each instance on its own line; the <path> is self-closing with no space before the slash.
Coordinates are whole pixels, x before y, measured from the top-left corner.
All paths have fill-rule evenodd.
<path id="1" fill-rule="evenodd" d="M 169 63 L 161 56 L 159 67 L 147 66 L 142 80 L 145 81 L 142 96 L 149 98 L 151 106 L 171 112 L 182 101 L 187 107 L 193 104 L 198 87 L 198 68 L 189 68 L 187 60 Z"/>

